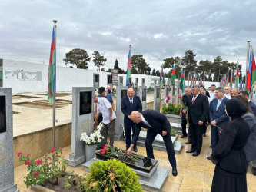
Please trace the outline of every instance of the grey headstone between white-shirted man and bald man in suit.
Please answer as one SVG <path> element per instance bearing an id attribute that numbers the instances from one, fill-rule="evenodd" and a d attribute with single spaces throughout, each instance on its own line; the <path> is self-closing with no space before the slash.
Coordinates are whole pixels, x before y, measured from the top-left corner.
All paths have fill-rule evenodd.
<path id="1" fill-rule="evenodd" d="M 124 135 L 124 114 L 121 112 L 121 99 L 127 95 L 127 87 L 118 86 L 116 88 L 116 119 L 115 119 L 115 141 L 121 140 Z"/>

